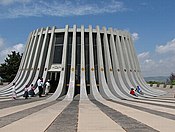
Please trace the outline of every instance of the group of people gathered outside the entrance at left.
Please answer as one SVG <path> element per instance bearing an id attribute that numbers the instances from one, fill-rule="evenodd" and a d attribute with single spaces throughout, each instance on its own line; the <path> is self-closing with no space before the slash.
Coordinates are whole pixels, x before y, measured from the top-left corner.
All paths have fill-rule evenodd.
<path id="1" fill-rule="evenodd" d="M 37 80 L 37 88 L 38 88 L 38 95 L 39 97 L 42 97 L 43 94 L 44 95 L 48 95 L 49 91 L 50 91 L 50 80 L 48 79 L 45 83 L 43 82 L 42 78 L 38 78 Z M 15 89 L 15 83 L 13 83 L 12 87 L 12 98 L 16 99 L 17 98 L 17 93 L 16 93 L 16 89 Z M 35 87 L 33 84 L 26 85 L 24 88 L 24 93 L 23 93 L 23 97 L 25 99 L 28 99 L 28 97 L 34 97 L 35 96 Z"/>

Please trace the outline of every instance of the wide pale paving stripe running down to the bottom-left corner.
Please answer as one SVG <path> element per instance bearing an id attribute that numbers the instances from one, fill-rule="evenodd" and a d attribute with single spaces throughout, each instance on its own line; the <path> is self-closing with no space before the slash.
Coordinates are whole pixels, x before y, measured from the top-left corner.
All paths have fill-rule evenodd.
<path id="1" fill-rule="evenodd" d="M 43 132 L 55 118 L 69 105 L 69 101 L 60 101 L 52 106 L 35 112 L 25 118 L 0 128 L 0 132 Z M 32 127 L 31 127 L 32 126 Z"/>

